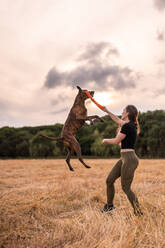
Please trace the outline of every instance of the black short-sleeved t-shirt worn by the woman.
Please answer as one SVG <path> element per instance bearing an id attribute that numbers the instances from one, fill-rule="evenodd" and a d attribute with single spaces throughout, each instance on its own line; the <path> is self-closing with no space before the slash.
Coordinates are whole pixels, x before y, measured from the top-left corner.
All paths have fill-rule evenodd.
<path id="1" fill-rule="evenodd" d="M 134 149 L 137 136 L 137 126 L 134 122 L 125 123 L 120 133 L 126 134 L 126 137 L 121 141 L 122 149 Z"/>

